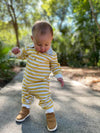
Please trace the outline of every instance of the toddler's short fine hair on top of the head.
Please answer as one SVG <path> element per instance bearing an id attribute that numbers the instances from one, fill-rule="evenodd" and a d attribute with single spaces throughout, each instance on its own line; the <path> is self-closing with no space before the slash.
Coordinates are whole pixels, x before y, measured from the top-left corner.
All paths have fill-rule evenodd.
<path id="1" fill-rule="evenodd" d="M 53 36 L 52 26 L 46 21 L 36 21 L 36 23 L 32 27 L 32 35 L 45 35 L 47 33 L 51 33 Z"/>

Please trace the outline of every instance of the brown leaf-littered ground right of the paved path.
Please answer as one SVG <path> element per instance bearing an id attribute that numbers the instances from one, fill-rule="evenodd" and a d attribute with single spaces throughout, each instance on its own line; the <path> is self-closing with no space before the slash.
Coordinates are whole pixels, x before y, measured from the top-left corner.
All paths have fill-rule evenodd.
<path id="1" fill-rule="evenodd" d="M 62 67 L 63 75 L 100 91 L 100 69 Z"/>

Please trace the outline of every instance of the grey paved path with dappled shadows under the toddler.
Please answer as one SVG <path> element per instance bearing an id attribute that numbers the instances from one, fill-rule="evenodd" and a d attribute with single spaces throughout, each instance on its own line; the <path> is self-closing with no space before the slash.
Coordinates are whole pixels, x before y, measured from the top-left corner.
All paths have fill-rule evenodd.
<path id="1" fill-rule="evenodd" d="M 46 127 L 45 111 L 34 99 L 30 117 L 15 122 L 21 108 L 23 71 L 0 90 L 0 133 L 50 133 Z M 61 88 L 56 78 L 50 77 L 51 97 L 58 129 L 54 133 L 100 133 L 100 93 L 64 76 Z"/>

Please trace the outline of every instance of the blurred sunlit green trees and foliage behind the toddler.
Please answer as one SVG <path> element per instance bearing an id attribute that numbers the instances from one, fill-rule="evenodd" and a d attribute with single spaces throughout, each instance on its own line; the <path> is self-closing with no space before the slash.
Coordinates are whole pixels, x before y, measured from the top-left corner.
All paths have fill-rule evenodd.
<path id="1" fill-rule="evenodd" d="M 100 68 L 100 0 L 0 1 L 0 78 L 12 78 L 14 66 L 25 61 L 10 58 L 12 47 L 32 43 L 35 21 L 49 21 L 53 49 L 62 66 Z"/>

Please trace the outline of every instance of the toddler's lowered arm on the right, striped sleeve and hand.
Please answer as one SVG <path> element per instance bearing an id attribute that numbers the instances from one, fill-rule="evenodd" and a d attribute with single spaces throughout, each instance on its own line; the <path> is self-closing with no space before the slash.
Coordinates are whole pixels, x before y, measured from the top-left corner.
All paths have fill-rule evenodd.
<path id="1" fill-rule="evenodd" d="M 60 67 L 60 64 L 58 63 L 56 53 L 54 54 L 52 61 L 51 61 L 51 70 L 54 76 L 57 78 L 57 80 L 61 83 L 61 86 L 63 87 L 64 81 L 63 81 L 63 77 L 61 74 L 61 67 Z"/>

